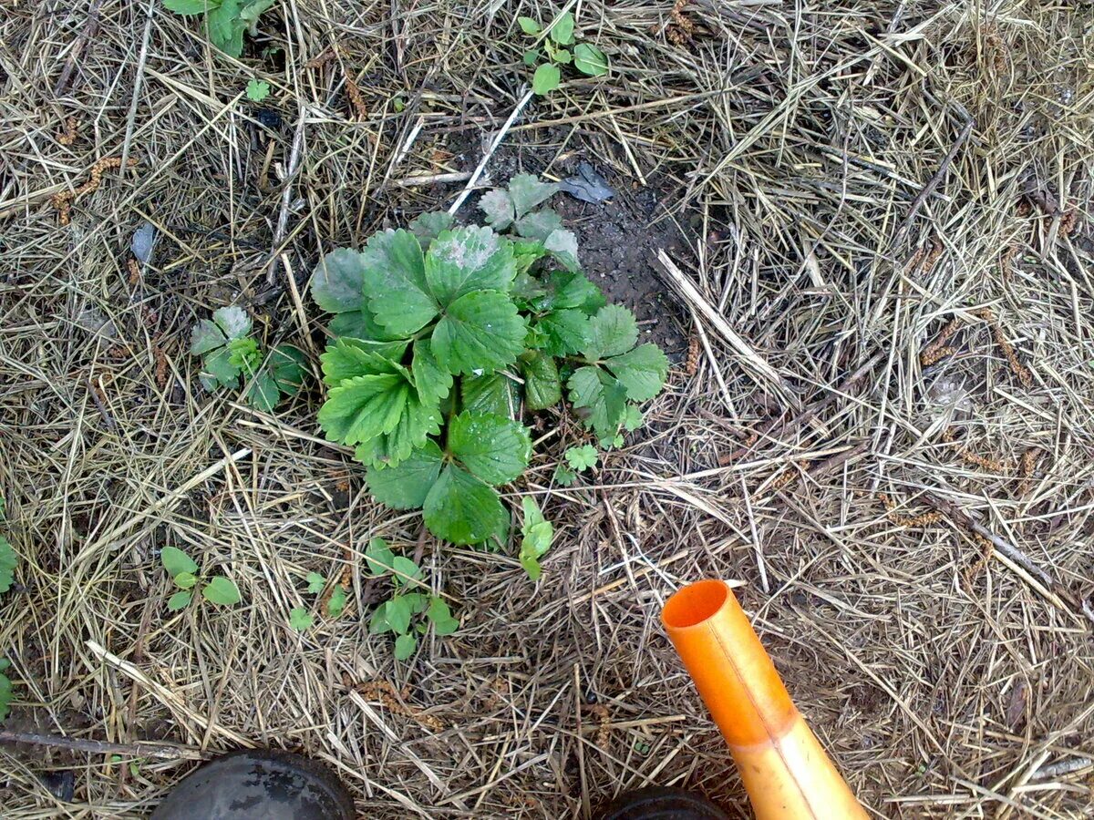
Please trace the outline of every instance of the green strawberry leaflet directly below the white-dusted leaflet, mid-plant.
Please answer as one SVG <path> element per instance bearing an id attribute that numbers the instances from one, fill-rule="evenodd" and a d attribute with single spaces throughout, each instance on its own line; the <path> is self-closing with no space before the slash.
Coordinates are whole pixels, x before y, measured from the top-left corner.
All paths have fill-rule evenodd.
<path id="1" fill-rule="evenodd" d="M 524 350 L 527 326 L 509 296 L 475 291 L 449 305 L 433 328 L 433 355 L 451 373 L 499 370 Z"/>

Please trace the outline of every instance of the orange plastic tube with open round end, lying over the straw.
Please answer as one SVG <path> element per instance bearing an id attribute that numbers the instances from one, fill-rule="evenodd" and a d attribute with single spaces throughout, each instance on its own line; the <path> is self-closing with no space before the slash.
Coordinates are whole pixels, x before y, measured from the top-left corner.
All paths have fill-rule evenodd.
<path id="1" fill-rule="evenodd" d="M 724 581 L 684 587 L 661 621 L 730 745 L 757 820 L 866 817 Z"/>

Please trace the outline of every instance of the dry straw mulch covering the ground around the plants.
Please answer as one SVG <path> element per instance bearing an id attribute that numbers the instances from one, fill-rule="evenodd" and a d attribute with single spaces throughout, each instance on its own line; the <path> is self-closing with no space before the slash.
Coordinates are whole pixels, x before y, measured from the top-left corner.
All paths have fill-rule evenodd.
<path id="1" fill-rule="evenodd" d="M 316 390 L 256 413 L 185 348 L 232 302 L 315 352 L 318 254 L 454 199 L 521 96 L 514 14 L 551 11 L 284 0 L 236 61 L 156 2 L 2 3 L 4 728 L 124 750 L 0 747 L 5 818 L 138 817 L 248 745 L 327 761 L 365 817 L 586 817 L 647 783 L 744 816 L 657 623 L 703 575 L 741 582 L 877 816 L 1087 816 L 1089 8 L 572 8 L 614 70 L 534 101 L 508 161 L 655 189 L 697 341 L 591 481 L 551 484 L 578 427 L 544 441 L 513 488 L 559 524 L 533 586 L 371 504 Z M 280 125 L 242 97 L 256 73 Z M 411 663 L 364 629 L 373 535 L 463 619 Z M 245 602 L 167 612 L 165 544 Z M 305 574 L 347 557 L 347 617 L 292 632 Z M 63 771 L 69 803 L 39 778 Z"/>

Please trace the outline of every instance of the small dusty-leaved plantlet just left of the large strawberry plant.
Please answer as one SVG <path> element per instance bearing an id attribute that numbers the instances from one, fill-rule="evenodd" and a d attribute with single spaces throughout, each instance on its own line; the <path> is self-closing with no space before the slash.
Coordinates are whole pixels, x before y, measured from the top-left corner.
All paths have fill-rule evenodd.
<path id="1" fill-rule="evenodd" d="M 282 397 L 300 391 L 307 358 L 292 344 L 278 344 L 267 355 L 249 333 L 251 317 L 243 308 L 221 307 L 194 326 L 190 353 L 201 356 L 198 378 L 207 390 L 237 390 L 242 377 L 243 399 L 269 412 Z"/>

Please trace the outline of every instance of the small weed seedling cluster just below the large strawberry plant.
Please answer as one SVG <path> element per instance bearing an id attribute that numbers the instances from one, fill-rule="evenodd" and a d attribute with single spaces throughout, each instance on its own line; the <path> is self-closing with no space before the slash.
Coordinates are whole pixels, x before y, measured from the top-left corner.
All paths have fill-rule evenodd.
<path id="1" fill-rule="evenodd" d="M 442 598 L 417 591 L 427 589 L 421 584 L 421 570 L 410 559 L 396 555 L 383 538 L 373 538 L 364 551 L 364 560 L 373 577 L 392 579 L 391 597 L 376 607 L 369 622 L 369 634 L 395 635 L 395 657 L 406 660 L 418 648 L 418 636 L 429 631 L 451 635 L 459 629 L 459 621 Z M 424 617 L 424 620 L 421 619 Z"/>

